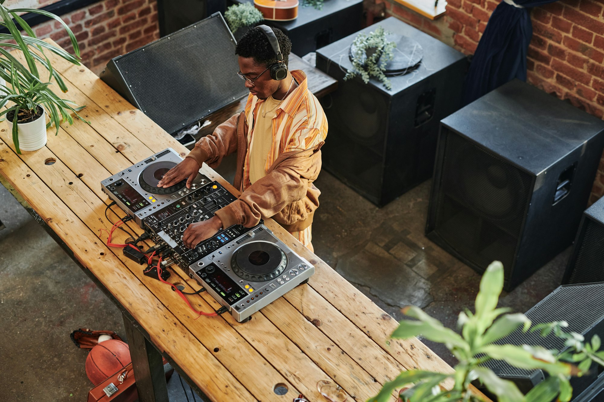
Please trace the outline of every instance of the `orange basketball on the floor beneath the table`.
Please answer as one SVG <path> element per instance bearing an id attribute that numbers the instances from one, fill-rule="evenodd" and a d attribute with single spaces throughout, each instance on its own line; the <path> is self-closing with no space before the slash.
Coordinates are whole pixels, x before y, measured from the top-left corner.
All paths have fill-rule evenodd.
<path id="1" fill-rule="evenodd" d="M 91 349 L 86 357 L 86 375 L 98 385 L 119 369 L 130 364 L 130 349 L 127 343 L 110 339 Z"/>

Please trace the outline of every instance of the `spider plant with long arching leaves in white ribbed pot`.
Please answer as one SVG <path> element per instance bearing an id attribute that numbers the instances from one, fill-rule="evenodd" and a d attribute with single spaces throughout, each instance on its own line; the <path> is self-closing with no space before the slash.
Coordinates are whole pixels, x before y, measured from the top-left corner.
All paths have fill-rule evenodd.
<path id="1" fill-rule="evenodd" d="M 77 114 L 85 106 L 77 107 L 72 101 L 57 96 L 50 88 L 56 83 L 62 92 L 67 92 L 65 82 L 54 71 L 44 53 L 51 51 L 75 65 L 80 65 L 80 48 L 76 36 L 65 22 L 53 13 L 33 8 L 9 10 L 4 3 L 5 0 L 0 0 L 0 25 L 7 28 L 9 34 L 0 34 L 0 78 L 6 82 L 6 85 L 0 86 L 0 117 L 6 118 L 12 124 L 14 147 L 17 153 L 21 153 L 21 149 L 32 151 L 42 148 L 46 144 L 47 128 L 54 126 L 57 135 L 61 120 L 73 124 L 71 113 L 80 120 L 89 122 Z M 42 14 L 59 21 L 69 34 L 75 56 L 37 39 L 31 27 L 19 16 L 20 13 Z M 16 24 L 20 25 L 23 33 Z M 6 48 L 18 51 L 13 53 Z M 27 66 L 21 60 L 24 60 Z M 39 66 L 48 71 L 48 80 L 40 78 Z M 48 123 L 46 114 L 50 120 Z"/>

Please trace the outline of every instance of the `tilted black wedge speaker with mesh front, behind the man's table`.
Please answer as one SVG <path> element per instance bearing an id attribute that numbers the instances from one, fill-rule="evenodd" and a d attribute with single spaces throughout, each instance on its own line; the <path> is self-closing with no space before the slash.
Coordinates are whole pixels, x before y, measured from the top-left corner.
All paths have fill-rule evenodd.
<path id="1" fill-rule="evenodd" d="M 100 78 L 170 134 L 239 100 L 235 39 L 222 14 L 109 61 Z"/>

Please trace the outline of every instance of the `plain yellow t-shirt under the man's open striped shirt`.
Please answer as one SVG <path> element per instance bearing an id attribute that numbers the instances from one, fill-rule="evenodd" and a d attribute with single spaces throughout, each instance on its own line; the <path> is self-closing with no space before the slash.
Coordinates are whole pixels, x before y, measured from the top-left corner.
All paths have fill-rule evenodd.
<path id="1" fill-rule="evenodd" d="M 265 104 L 259 107 L 255 116 L 252 141 L 249 145 L 249 181 L 254 184 L 256 180 L 266 176 L 266 159 L 271 151 L 272 144 L 272 119 L 277 115 L 277 105 L 280 100 L 268 97 Z M 262 108 L 266 112 L 262 116 Z"/>

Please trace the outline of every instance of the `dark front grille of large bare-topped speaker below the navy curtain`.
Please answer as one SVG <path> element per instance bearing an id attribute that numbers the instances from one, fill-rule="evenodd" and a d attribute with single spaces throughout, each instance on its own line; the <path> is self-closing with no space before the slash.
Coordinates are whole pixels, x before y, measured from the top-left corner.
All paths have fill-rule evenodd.
<path id="1" fill-rule="evenodd" d="M 435 229 L 478 267 L 512 269 L 532 177 L 445 127 Z"/>

